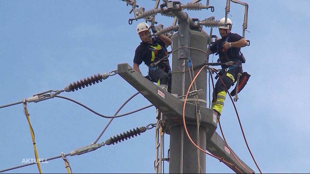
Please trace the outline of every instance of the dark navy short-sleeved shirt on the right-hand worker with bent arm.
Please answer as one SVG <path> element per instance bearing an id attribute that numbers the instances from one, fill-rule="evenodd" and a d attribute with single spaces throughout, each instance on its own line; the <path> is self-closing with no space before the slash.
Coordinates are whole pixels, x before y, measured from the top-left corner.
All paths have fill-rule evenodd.
<path id="1" fill-rule="evenodd" d="M 235 33 L 229 33 L 227 37 L 228 37 L 227 42 L 237 42 L 237 41 L 239 41 L 240 39 L 243 38 L 239 34 L 235 34 Z M 232 47 L 232 48 L 227 49 L 226 52 L 225 52 L 225 54 L 227 54 L 227 59 L 223 58 L 224 53 L 221 50 L 222 50 L 222 44 L 225 41 L 226 41 L 226 37 L 221 38 L 221 39 L 215 41 L 215 43 L 210 46 L 210 51 L 213 54 L 216 53 L 216 52 L 219 53 L 219 58 L 221 60 L 221 63 L 226 63 L 226 62 L 229 62 L 229 61 L 238 62 L 240 48 L 237 48 L 237 47 Z"/>

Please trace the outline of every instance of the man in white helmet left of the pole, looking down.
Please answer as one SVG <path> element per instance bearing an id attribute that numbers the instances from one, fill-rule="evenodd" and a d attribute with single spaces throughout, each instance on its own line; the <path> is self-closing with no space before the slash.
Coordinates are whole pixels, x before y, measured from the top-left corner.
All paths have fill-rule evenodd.
<path id="1" fill-rule="evenodd" d="M 154 26 L 151 30 L 153 33 L 157 32 Z M 137 25 L 136 31 L 142 42 L 135 50 L 134 69 L 141 73 L 139 65 L 144 62 L 148 66 L 148 76 L 145 77 L 152 82 L 157 82 L 159 87 L 171 92 L 171 68 L 166 49 L 166 46 L 172 43 L 170 38 L 165 35 L 151 37 L 150 28 L 144 22 Z M 154 66 L 153 63 L 159 60 L 161 60 L 160 63 Z"/>

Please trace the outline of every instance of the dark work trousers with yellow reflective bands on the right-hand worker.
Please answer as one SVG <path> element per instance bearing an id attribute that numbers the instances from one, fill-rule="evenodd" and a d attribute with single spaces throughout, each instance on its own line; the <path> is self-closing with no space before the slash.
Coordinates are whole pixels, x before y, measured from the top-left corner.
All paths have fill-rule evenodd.
<path id="1" fill-rule="evenodd" d="M 237 74 L 238 74 L 237 68 L 235 68 L 227 72 L 224 72 L 223 75 L 221 75 L 221 78 L 227 89 L 229 89 L 233 85 L 233 83 L 237 80 Z M 226 98 L 225 86 L 223 85 L 222 81 L 218 79 L 215 84 L 215 89 L 213 91 L 211 109 L 217 111 L 219 115 L 221 115 L 222 113 L 224 101 Z"/>

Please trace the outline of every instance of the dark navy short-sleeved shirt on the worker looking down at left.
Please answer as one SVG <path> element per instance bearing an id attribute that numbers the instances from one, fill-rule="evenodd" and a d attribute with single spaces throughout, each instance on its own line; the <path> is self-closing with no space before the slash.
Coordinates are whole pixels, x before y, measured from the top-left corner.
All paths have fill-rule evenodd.
<path id="1" fill-rule="evenodd" d="M 165 42 L 163 42 L 159 37 L 152 37 L 152 44 L 141 42 L 140 45 L 135 50 L 135 58 L 134 63 L 140 65 L 142 62 L 149 66 L 151 63 L 152 58 L 152 51 L 149 49 L 149 46 L 157 46 L 159 44 L 162 47 L 165 46 Z"/>

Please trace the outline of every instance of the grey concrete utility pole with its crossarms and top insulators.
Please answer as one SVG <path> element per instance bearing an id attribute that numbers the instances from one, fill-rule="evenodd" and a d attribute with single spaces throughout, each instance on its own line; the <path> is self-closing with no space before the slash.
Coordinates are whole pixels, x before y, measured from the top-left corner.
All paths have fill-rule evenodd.
<path id="1" fill-rule="evenodd" d="M 192 77 L 190 77 L 188 61 L 192 61 L 193 67 L 206 63 L 207 56 L 204 52 L 207 52 L 206 45 L 208 44 L 209 36 L 201 32 L 201 25 L 216 27 L 225 24 L 214 20 L 193 20 L 187 13 L 182 11 L 183 8 L 207 9 L 210 8 L 208 5 L 182 5 L 180 2 L 170 1 L 161 4 L 160 7 L 161 9 L 146 11 L 136 16 L 135 19 L 145 18 L 156 13 L 172 14 L 178 18 L 178 27 L 170 27 L 170 31 L 178 30 L 178 33 L 175 33 L 173 36 L 172 46 L 172 51 L 176 50 L 172 56 L 172 94 L 145 79 L 144 76 L 135 72 L 127 63 L 118 64 L 117 73 L 164 114 L 164 121 L 166 123 L 164 131 L 170 134 L 169 173 L 206 173 L 206 154 L 201 151 L 197 153 L 197 148 L 189 141 L 184 131 L 182 121 L 184 99 L 178 99 L 175 96 L 182 96 L 186 93 L 191 83 L 191 78 L 193 78 L 194 74 L 198 71 L 198 69 L 194 69 L 194 74 L 192 73 Z M 131 21 L 132 20 L 133 19 L 131 19 Z M 197 23 L 195 23 L 195 21 L 197 21 Z M 169 31 L 169 28 L 163 29 L 155 35 L 166 33 L 167 31 Z M 229 163 L 235 164 L 242 173 L 247 173 L 247 171 L 252 171 L 252 173 L 254 173 L 254 171 L 240 159 L 238 160 L 241 161 L 246 169 L 237 162 L 233 157 L 234 152 L 225 146 L 224 140 L 215 132 L 217 117 L 213 110 L 206 107 L 206 95 L 198 95 L 206 93 L 206 69 L 197 77 L 196 89 L 191 89 L 190 91 L 195 93 L 195 95 L 188 97 L 185 107 L 185 120 L 188 133 L 193 141 L 198 144 L 197 135 L 199 135 L 199 146 L 202 149 L 207 149 L 211 154 L 223 157 Z M 198 109 L 195 104 L 194 96 L 196 97 L 196 102 L 198 102 L 197 104 L 199 104 L 201 115 L 199 134 L 197 133 L 196 112 Z M 197 98 L 199 98 L 199 100 Z M 237 155 L 235 154 L 235 156 Z M 236 173 L 239 172 L 234 166 L 228 165 L 228 167 Z"/>

